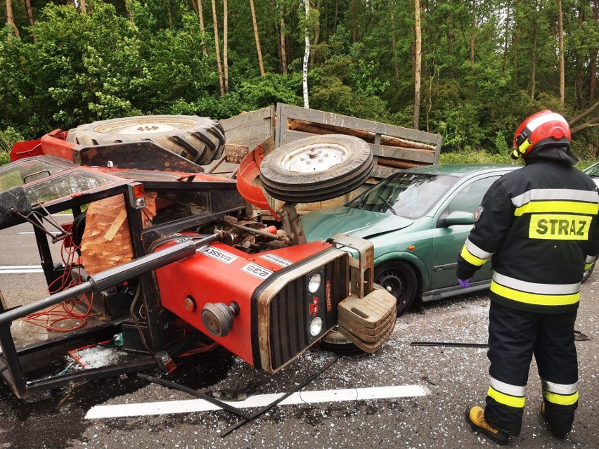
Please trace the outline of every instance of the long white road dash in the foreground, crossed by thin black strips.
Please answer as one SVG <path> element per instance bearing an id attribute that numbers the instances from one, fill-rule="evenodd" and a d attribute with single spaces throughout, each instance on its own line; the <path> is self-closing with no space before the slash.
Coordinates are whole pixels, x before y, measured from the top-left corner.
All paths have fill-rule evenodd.
<path id="1" fill-rule="evenodd" d="M 365 401 L 368 399 L 411 398 L 426 396 L 430 391 L 419 385 L 376 386 L 370 388 L 302 391 L 293 393 L 278 405 L 315 404 L 323 402 Z M 229 402 L 236 408 L 256 408 L 269 405 L 283 393 L 259 394 L 245 401 Z M 219 406 L 204 401 L 150 402 L 139 404 L 96 405 L 85 415 L 86 419 L 106 419 L 129 416 L 167 415 L 171 413 L 207 412 L 221 410 Z"/>

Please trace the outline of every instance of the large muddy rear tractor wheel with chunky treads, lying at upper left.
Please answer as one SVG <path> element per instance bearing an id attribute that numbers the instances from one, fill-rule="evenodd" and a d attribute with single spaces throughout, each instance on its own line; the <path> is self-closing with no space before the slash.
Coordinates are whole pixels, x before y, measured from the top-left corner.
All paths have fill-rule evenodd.
<path id="1" fill-rule="evenodd" d="M 80 145 L 153 141 L 195 164 L 221 157 L 225 136 L 215 120 L 196 115 L 145 115 L 101 120 L 71 129 L 67 141 Z"/>

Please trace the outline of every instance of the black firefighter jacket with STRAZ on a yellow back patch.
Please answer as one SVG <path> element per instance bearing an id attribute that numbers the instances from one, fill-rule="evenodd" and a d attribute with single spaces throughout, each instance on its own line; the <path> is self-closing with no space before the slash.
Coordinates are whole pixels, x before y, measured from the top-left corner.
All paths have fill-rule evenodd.
<path id="1" fill-rule="evenodd" d="M 458 276 L 491 260 L 491 301 L 540 313 L 572 311 L 584 270 L 599 252 L 598 188 L 571 164 L 526 162 L 484 195 L 458 255 Z"/>

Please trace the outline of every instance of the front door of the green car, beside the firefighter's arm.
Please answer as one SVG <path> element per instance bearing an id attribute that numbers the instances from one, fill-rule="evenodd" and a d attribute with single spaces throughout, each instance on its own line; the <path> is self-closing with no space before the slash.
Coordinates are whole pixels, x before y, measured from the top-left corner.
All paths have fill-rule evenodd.
<path id="1" fill-rule="evenodd" d="M 452 212 L 474 214 L 491 184 L 500 177 L 495 174 L 487 174 L 459 186 L 456 193 L 450 196 L 449 202 L 445 202 L 439 214 L 436 215 L 437 223 Z M 471 224 L 443 226 L 442 223 L 437 224 L 437 227 L 433 229 L 432 289 L 458 285 L 456 259 L 471 229 Z M 485 263 L 477 271 L 475 280 L 487 280 L 491 278 L 491 275 L 491 263 Z"/>

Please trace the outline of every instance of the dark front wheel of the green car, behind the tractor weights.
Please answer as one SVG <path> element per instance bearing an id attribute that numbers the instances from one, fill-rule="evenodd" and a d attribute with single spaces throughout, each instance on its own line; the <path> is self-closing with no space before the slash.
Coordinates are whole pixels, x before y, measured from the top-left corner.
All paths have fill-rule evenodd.
<path id="1" fill-rule="evenodd" d="M 375 282 L 397 299 L 397 316 L 406 312 L 416 299 L 418 280 L 406 262 L 385 262 L 375 268 Z"/>

